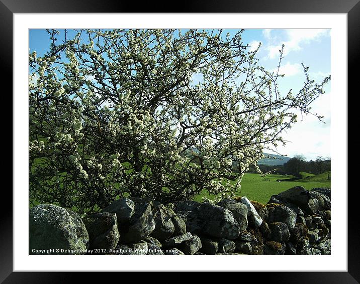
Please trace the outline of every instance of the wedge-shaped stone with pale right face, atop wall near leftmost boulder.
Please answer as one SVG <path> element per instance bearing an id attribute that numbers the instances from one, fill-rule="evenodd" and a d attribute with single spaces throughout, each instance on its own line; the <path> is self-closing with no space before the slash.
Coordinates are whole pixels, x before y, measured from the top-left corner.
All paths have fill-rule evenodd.
<path id="1" fill-rule="evenodd" d="M 129 222 L 134 215 L 135 204 L 128 198 L 122 198 L 113 201 L 109 206 L 105 207 L 102 212 L 116 213 L 117 222 L 120 230 L 120 225 Z"/>

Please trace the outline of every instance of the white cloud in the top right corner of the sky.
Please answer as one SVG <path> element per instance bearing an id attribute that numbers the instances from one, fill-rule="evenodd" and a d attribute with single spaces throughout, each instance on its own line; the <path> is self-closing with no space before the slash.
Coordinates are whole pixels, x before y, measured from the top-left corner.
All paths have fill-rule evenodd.
<path id="1" fill-rule="evenodd" d="M 264 37 L 266 38 L 270 32 L 263 32 Z M 287 55 L 291 51 L 301 50 L 302 46 L 310 43 L 311 41 L 319 40 L 321 37 L 329 36 L 329 30 L 325 29 L 290 29 L 286 30 L 287 40 L 281 41 L 277 45 L 269 45 L 266 47 L 268 51 L 267 58 L 277 58 L 279 56 L 279 50 L 281 50 L 282 45 L 284 44 L 284 54 Z"/>

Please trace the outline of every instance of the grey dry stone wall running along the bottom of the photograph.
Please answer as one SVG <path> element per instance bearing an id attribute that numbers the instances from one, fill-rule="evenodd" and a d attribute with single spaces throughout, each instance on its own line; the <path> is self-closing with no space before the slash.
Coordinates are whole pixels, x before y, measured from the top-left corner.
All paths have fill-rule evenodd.
<path id="1" fill-rule="evenodd" d="M 330 254 L 330 236 L 330 189 L 294 187 L 267 204 L 123 198 L 82 219 L 41 204 L 30 210 L 29 253 Z"/>

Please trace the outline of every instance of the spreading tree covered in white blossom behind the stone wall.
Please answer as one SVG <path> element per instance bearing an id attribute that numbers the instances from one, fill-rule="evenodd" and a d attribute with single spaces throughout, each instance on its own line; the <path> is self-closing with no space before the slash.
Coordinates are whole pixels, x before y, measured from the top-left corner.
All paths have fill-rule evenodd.
<path id="1" fill-rule="evenodd" d="M 31 200 L 84 213 L 124 195 L 166 203 L 239 189 L 330 79 L 315 83 L 304 66 L 302 88 L 281 93 L 279 69 L 261 67 L 242 32 L 81 30 L 59 41 L 49 30 L 48 52 L 29 55 Z"/>

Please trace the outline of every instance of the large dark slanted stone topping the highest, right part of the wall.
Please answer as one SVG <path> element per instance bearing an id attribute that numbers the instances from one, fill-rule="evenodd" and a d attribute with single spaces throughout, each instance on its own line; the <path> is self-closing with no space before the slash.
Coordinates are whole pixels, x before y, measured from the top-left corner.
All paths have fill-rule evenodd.
<path id="1" fill-rule="evenodd" d="M 318 200 L 311 196 L 310 191 L 302 186 L 293 187 L 279 193 L 279 196 L 287 202 L 300 207 L 305 214 L 316 214 L 319 210 Z"/>

